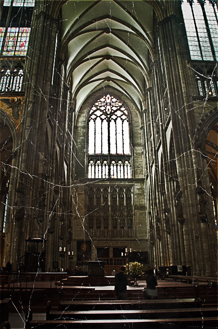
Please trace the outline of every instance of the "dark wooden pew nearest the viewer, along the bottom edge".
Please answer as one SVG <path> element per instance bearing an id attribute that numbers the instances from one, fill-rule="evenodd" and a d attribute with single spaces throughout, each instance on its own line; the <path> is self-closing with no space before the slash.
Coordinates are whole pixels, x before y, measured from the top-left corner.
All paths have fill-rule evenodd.
<path id="1" fill-rule="evenodd" d="M 217 328 L 217 317 L 176 318 L 176 319 L 120 319 L 120 320 L 31 320 L 25 328 Z"/>

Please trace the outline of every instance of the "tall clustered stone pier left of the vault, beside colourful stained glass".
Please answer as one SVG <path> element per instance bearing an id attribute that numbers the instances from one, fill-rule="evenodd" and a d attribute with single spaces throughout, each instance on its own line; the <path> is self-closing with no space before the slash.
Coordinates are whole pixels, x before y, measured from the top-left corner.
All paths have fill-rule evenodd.
<path id="1" fill-rule="evenodd" d="M 43 2 L 45 4 L 45 2 Z M 45 149 L 45 131 L 49 106 L 49 93 L 52 76 L 53 58 L 55 52 L 55 37 L 57 33 L 57 19 L 48 14 L 53 6 L 46 3 L 45 11 L 41 11 L 41 3 L 36 4 L 36 15 L 32 19 L 32 31 L 28 54 L 26 57 L 26 74 L 24 77 L 25 103 L 23 108 L 20 141 L 14 172 L 13 189 L 23 182 L 23 204 L 25 215 L 18 220 L 16 216 L 16 198 L 11 200 L 11 237 L 15 239 L 15 249 L 6 240 L 6 254 L 12 254 L 12 262 L 23 256 L 24 240 L 29 236 L 37 236 L 35 222 L 36 203 L 38 202 L 39 187 L 43 177 L 43 162 Z M 56 4 L 54 4 L 56 7 Z M 52 9 L 51 9 L 52 11 Z M 21 173 L 22 179 L 21 179 Z M 46 183 L 46 188 L 48 185 Z M 46 232 L 44 232 L 46 233 Z M 10 246 L 7 246 L 10 245 Z M 12 250 L 13 249 L 13 250 Z M 19 265 L 19 264 L 17 264 Z M 15 269 L 15 268 L 14 268 Z"/>

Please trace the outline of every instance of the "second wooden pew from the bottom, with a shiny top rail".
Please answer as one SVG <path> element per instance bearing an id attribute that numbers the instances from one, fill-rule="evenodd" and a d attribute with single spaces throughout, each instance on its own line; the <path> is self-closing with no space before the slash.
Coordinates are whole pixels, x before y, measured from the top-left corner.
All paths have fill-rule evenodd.
<path id="1" fill-rule="evenodd" d="M 106 311 L 50 311 L 46 320 L 92 320 L 92 319 L 157 319 L 216 316 L 218 308 L 160 309 L 160 310 L 106 310 Z"/>

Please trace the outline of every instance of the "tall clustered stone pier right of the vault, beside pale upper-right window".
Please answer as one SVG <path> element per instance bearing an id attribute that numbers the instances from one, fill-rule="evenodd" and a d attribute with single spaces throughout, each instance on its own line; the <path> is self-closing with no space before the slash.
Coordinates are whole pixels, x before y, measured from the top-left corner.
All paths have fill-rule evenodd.
<path id="1" fill-rule="evenodd" d="M 205 259 L 203 245 L 194 240 L 195 231 L 200 229 L 197 214 L 197 202 L 194 186 L 197 182 L 197 168 L 199 160 L 195 156 L 193 137 L 195 133 L 194 112 L 192 107 L 191 92 L 193 79 L 188 82 L 187 76 L 192 77 L 188 68 L 185 51 L 181 44 L 185 39 L 181 33 L 181 22 L 170 15 L 159 24 L 162 41 L 162 54 L 165 67 L 168 69 L 166 76 L 170 114 L 175 141 L 175 155 L 177 162 L 178 178 L 181 189 L 184 191 L 184 223 L 185 253 L 187 265 L 192 265 L 193 274 L 204 274 Z M 181 42 L 182 40 L 182 42 Z M 173 54 L 177 54 L 174 56 Z M 182 139 L 181 139 L 182 136 Z M 186 170 L 185 170 L 186 169 Z"/>

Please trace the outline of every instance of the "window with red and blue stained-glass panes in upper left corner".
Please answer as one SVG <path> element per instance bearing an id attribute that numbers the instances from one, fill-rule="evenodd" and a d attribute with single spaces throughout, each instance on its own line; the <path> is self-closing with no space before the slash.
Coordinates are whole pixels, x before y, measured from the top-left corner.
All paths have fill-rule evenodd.
<path id="1" fill-rule="evenodd" d="M 32 0 L 4 1 L 0 27 L 2 56 L 26 55 L 34 4 Z"/>

